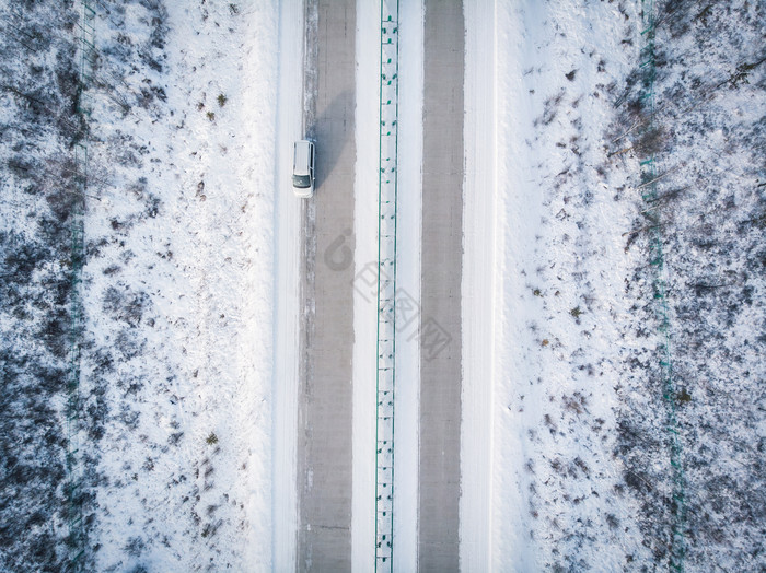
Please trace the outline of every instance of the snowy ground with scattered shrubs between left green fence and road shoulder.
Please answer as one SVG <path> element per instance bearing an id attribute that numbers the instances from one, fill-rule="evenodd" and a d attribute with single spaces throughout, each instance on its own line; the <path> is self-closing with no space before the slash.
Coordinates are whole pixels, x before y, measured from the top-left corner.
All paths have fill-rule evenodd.
<path id="1" fill-rule="evenodd" d="M 82 373 L 98 571 L 271 565 L 278 17 L 97 13 Z"/>

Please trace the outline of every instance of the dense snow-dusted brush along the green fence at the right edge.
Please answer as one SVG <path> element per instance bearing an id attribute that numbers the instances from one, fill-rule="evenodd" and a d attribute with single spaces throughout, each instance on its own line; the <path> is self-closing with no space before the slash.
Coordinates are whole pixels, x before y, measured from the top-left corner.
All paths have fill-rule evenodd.
<path id="1" fill-rule="evenodd" d="M 658 566 L 669 559 L 670 524 L 681 518 L 687 571 L 757 571 L 766 564 L 766 5 L 661 2 L 655 20 L 652 127 L 627 140 L 637 159 L 654 154 L 657 199 L 637 203 L 626 249 L 646 254 L 659 230 L 683 501 L 668 494 L 671 468 L 646 454 L 669 458 L 661 351 L 626 361 L 616 452 Z M 649 119 L 640 97 L 648 73 L 628 79 L 615 133 Z M 657 273 L 645 265 L 626 283 L 641 318 L 638 339 L 658 330 Z"/>

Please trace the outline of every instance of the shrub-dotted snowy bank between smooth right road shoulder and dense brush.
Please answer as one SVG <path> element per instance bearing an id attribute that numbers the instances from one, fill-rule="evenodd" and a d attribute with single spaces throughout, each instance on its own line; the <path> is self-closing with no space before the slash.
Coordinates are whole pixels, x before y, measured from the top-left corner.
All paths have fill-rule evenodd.
<path id="1" fill-rule="evenodd" d="M 607 173 L 603 141 L 632 63 L 620 40 L 636 38 L 635 19 L 580 2 L 497 13 L 499 570 L 617 570 L 627 554 L 648 557 L 613 456 L 617 341 L 631 323 L 624 278 L 640 256 L 624 252 L 635 207 L 619 194 L 635 172 Z"/>

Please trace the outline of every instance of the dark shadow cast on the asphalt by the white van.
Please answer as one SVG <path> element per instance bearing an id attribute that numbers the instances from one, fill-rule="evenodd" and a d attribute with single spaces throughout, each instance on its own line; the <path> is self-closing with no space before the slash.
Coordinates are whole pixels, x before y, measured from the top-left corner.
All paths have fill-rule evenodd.
<path id="1" fill-rule="evenodd" d="M 336 95 L 313 121 L 306 121 L 306 138 L 316 144 L 316 188 L 333 172 L 346 145 L 353 138 L 353 91 L 345 90 Z M 353 160 L 350 164 L 353 176 Z"/>

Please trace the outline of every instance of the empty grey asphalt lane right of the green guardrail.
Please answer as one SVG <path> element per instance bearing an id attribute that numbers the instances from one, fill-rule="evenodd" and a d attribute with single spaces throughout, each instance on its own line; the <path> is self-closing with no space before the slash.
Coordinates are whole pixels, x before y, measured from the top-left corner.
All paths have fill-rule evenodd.
<path id="1" fill-rule="evenodd" d="M 457 571 L 463 3 L 426 0 L 418 569 Z"/>

